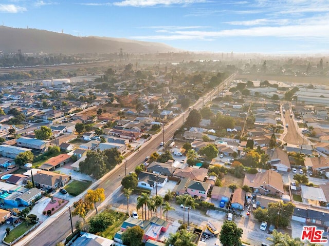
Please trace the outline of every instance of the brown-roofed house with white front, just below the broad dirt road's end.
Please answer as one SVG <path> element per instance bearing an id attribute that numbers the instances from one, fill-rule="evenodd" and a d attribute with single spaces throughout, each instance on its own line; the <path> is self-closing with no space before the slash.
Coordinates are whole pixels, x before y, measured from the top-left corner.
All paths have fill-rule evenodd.
<path id="1" fill-rule="evenodd" d="M 290 160 L 286 152 L 280 148 L 263 148 L 265 153 L 269 156 L 268 164 L 278 171 L 290 171 Z"/>

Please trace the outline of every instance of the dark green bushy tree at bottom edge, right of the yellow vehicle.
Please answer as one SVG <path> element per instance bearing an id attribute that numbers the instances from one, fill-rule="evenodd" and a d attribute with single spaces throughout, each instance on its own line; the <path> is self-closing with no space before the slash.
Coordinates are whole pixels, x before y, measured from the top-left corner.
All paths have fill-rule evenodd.
<path id="1" fill-rule="evenodd" d="M 243 230 L 233 221 L 225 220 L 221 230 L 220 240 L 224 246 L 240 246 Z"/>

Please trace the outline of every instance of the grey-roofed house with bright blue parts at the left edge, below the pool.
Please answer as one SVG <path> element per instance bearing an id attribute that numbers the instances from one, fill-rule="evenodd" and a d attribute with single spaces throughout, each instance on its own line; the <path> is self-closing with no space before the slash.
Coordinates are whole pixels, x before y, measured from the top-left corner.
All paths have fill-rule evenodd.
<path id="1" fill-rule="evenodd" d="M 14 191 L 2 194 L 4 203 L 14 207 L 30 206 L 34 201 L 42 197 L 42 191 L 38 188 L 31 188 L 25 192 Z"/>

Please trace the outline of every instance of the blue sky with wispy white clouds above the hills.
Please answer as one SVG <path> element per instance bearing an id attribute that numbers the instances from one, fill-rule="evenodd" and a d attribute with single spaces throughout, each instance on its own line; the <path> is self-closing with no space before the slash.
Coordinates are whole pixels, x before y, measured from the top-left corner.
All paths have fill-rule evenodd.
<path id="1" fill-rule="evenodd" d="M 329 0 L 0 0 L 0 24 L 190 51 L 329 53 Z"/>

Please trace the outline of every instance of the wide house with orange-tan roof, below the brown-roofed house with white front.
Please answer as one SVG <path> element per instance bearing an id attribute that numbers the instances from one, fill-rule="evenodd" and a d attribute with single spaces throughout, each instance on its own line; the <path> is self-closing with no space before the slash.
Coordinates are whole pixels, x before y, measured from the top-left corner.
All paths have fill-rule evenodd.
<path id="1" fill-rule="evenodd" d="M 243 185 L 250 187 L 254 193 L 270 194 L 282 197 L 283 182 L 280 173 L 273 170 L 266 170 L 263 173 L 245 174 Z"/>

